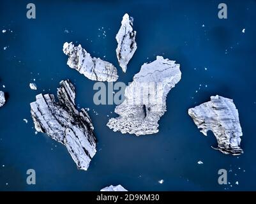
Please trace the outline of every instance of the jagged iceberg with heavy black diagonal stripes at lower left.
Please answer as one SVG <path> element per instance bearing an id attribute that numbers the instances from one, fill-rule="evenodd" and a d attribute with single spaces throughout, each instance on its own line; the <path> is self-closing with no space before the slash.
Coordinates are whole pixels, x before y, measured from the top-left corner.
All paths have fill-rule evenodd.
<path id="1" fill-rule="evenodd" d="M 47 133 L 63 143 L 77 164 L 87 170 L 96 154 L 96 138 L 91 119 L 83 108 L 75 108 L 75 87 L 69 80 L 61 81 L 57 89 L 58 102 L 52 94 L 39 94 L 30 104 L 36 131 Z"/>

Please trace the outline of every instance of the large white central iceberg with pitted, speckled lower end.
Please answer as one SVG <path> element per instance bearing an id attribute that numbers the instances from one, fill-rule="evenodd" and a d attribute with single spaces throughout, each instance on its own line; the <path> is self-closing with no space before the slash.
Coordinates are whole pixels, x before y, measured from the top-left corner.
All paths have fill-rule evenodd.
<path id="1" fill-rule="evenodd" d="M 119 117 L 107 123 L 113 131 L 139 135 L 158 133 L 158 120 L 166 111 L 166 97 L 181 80 L 179 64 L 157 56 L 143 64 L 125 89 L 125 99 L 116 106 Z"/>

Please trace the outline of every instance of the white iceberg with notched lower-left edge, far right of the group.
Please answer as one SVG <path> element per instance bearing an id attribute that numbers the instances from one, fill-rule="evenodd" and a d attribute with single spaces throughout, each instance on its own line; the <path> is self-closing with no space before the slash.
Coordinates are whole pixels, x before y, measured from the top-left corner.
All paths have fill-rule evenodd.
<path id="1" fill-rule="evenodd" d="M 204 135 L 207 135 L 207 131 L 213 132 L 218 142 L 218 147 L 213 147 L 214 149 L 224 154 L 243 154 L 240 147 L 243 133 L 232 99 L 211 96 L 211 101 L 190 108 L 188 114 Z"/>

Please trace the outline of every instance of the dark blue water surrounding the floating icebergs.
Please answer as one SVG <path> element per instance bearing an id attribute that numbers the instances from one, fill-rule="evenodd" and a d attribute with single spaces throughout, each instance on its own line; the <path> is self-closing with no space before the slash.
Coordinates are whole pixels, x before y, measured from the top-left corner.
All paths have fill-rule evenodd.
<path id="1" fill-rule="evenodd" d="M 0 3 L 0 31 L 7 30 L 0 33 L 0 89 L 8 95 L 0 108 L 0 190 L 99 191 L 110 184 L 130 191 L 256 190 L 255 1 L 226 0 L 228 18 L 222 20 L 220 1 L 33 1 L 36 19 L 26 18 L 27 3 Z M 126 12 L 134 17 L 138 49 L 124 74 L 115 36 Z M 159 133 L 136 137 L 107 128 L 115 105 L 94 105 L 94 82 L 68 68 L 65 41 L 112 62 L 119 68 L 118 81 L 127 84 L 156 55 L 181 64 L 182 79 L 169 93 Z M 37 91 L 29 89 L 34 78 Z M 77 170 L 63 145 L 35 135 L 30 117 L 36 94 L 56 94 L 67 78 L 77 89 L 76 103 L 91 109 L 98 138 L 88 171 Z M 234 99 L 239 110 L 245 150 L 239 157 L 211 149 L 213 134 L 203 136 L 187 114 L 215 94 Z M 32 186 L 26 184 L 30 168 L 36 170 Z M 230 184 L 221 186 L 222 168 Z"/>

